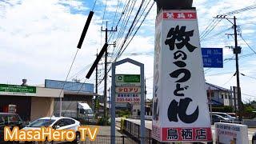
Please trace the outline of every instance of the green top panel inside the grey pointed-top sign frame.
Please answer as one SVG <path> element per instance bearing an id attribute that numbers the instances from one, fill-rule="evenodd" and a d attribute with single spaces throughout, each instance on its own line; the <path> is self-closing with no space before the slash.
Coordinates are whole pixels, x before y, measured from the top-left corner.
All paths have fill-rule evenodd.
<path id="1" fill-rule="evenodd" d="M 116 82 L 141 82 L 140 74 L 116 74 Z"/>

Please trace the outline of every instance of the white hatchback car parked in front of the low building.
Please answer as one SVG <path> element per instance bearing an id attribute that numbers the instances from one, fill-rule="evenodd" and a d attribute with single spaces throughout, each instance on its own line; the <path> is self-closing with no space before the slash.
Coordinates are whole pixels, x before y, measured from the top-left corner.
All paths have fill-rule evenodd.
<path id="1" fill-rule="evenodd" d="M 80 134 L 78 132 L 78 126 L 80 126 L 80 122 L 73 118 L 67 117 L 45 117 L 39 118 L 34 122 L 30 122 L 30 124 L 24 127 L 22 130 L 40 130 L 41 127 L 52 127 L 55 130 L 74 130 L 76 131 L 76 138 L 72 143 L 80 142 Z M 27 142 L 26 142 L 27 143 Z M 28 142 L 30 143 L 30 142 Z M 54 142 L 46 142 L 44 143 L 54 143 Z"/>

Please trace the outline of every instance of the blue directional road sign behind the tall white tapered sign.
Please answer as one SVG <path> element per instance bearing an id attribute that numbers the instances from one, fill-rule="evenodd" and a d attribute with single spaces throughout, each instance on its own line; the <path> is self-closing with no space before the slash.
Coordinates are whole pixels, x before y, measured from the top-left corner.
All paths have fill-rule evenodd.
<path id="1" fill-rule="evenodd" d="M 223 68 L 222 48 L 202 48 L 203 67 Z"/>

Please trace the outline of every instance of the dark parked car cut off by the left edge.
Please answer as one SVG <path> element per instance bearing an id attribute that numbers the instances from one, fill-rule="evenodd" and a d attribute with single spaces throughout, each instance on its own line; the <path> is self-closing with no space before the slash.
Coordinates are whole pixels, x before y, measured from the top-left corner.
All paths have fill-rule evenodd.
<path id="1" fill-rule="evenodd" d="M 0 143 L 6 143 L 3 138 L 5 126 L 9 126 L 10 130 L 12 130 L 14 126 L 18 126 L 19 129 L 22 129 L 24 127 L 24 122 L 22 122 L 22 118 L 20 118 L 18 114 L 0 113 Z"/>

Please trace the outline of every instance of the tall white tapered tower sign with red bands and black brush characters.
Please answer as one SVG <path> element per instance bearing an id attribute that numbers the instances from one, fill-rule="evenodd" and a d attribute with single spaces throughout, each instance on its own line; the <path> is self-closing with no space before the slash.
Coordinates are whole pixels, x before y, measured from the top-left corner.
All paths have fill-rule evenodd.
<path id="1" fill-rule="evenodd" d="M 211 142 L 196 10 L 162 10 L 156 18 L 152 137 Z"/>

